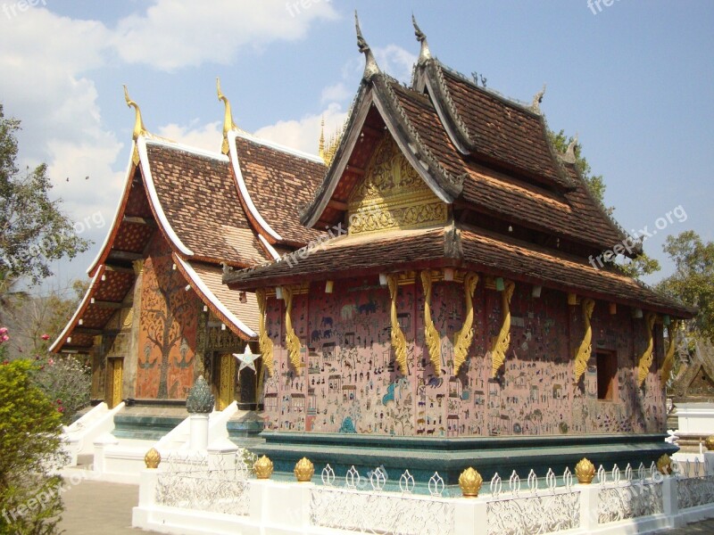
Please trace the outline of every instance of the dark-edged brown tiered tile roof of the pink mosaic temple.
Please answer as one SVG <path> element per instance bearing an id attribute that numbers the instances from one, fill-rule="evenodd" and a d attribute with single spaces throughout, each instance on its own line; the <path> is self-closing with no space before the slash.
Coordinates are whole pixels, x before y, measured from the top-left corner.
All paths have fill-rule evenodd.
<path id="1" fill-rule="evenodd" d="M 358 26 L 365 74 L 335 160 L 303 211 L 308 227 L 345 220 L 348 201 L 382 136 L 392 136 L 436 198 L 445 225 L 336 238 L 297 265 L 276 262 L 224 277 L 253 289 L 305 279 L 453 267 L 508 276 L 665 314 L 676 300 L 588 261 L 628 237 L 602 209 L 573 159 L 552 148 L 536 95 L 532 107 L 453 73 L 422 52 L 411 87 L 381 72 Z M 636 256 L 637 250 L 629 253 Z"/>

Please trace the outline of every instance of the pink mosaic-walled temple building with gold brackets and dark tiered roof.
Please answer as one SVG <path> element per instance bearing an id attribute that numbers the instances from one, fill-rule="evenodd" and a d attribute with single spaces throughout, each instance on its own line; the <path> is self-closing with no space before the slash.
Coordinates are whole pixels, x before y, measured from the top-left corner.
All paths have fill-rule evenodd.
<path id="1" fill-rule="evenodd" d="M 694 311 L 607 261 L 640 250 L 539 109 L 421 45 L 410 86 L 364 75 L 300 222 L 320 247 L 223 280 L 255 292 L 266 453 L 398 476 L 656 460 L 664 331 Z M 355 460 L 356 459 L 356 460 Z M 501 465 L 499 464 L 501 463 Z M 430 471 L 430 472 L 428 472 Z M 428 475 L 427 475 L 428 477 Z"/>

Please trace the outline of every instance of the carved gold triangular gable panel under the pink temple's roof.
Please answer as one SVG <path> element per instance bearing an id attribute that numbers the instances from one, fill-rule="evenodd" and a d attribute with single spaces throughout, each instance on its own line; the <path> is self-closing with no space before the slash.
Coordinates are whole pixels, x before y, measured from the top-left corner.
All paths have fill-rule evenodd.
<path id="1" fill-rule="evenodd" d="M 384 136 L 367 172 L 347 204 L 349 233 L 365 234 L 445 223 L 440 201 L 404 158 L 392 136 Z"/>

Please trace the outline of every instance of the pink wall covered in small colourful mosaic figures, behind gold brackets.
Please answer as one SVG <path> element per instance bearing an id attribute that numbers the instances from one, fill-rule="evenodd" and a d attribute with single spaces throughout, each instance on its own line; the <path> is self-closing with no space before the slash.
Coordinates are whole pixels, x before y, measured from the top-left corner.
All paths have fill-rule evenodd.
<path id="1" fill-rule="evenodd" d="M 452 340 L 464 311 L 461 284 L 436 283 L 432 317 L 442 334 L 442 370 L 436 377 L 424 344 L 421 285 L 399 289 L 399 321 L 408 342 L 409 374 L 394 369 L 389 292 L 376 284 L 315 286 L 297 295 L 293 323 L 303 344 L 303 374 L 285 350 L 285 309 L 270 299 L 268 329 L 275 344 L 276 374 L 264 390 L 266 428 L 284 431 L 360 432 L 419 436 L 557 435 L 664 430 L 664 398 L 657 375 L 663 358 L 661 328 L 656 356 L 643 389 L 636 387 L 639 355 L 646 347 L 643 319 L 620 308 L 610 316 L 598 301 L 593 352 L 615 351 L 616 396 L 597 399 L 596 359 L 579 386 L 573 354 L 582 339 L 580 306 L 565 294 L 517 284 L 511 301 L 511 347 L 491 378 L 486 356 L 501 327 L 501 294 L 477 286 L 475 336 L 467 364 L 453 375 Z M 570 336 L 572 333 L 572 338 Z"/>

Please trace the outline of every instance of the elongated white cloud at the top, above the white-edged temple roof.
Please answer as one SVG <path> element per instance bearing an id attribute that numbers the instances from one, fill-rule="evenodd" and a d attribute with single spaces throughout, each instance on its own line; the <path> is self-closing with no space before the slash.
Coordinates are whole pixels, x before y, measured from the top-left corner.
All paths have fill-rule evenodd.
<path id="1" fill-rule="evenodd" d="M 159 70 L 228 64 L 245 47 L 300 39 L 312 21 L 337 18 L 329 0 L 301 0 L 297 8 L 285 0 L 157 0 L 119 21 L 113 45 L 124 62 Z"/>

